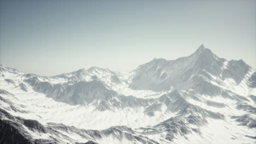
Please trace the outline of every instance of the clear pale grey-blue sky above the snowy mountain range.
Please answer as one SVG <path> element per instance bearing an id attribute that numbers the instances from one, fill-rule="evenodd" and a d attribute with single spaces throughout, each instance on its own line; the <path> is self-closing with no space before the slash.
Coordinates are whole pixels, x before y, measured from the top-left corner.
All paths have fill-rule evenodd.
<path id="1" fill-rule="evenodd" d="M 25 73 L 130 71 L 201 44 L 256 68 L 256 1 L 0 1 L 0 63 Z"/>

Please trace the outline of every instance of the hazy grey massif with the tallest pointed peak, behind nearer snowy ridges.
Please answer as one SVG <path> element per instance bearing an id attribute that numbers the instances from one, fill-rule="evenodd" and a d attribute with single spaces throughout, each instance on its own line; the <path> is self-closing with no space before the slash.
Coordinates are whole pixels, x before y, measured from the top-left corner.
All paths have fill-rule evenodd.
<path id="1" fill-rule="evenodd" d="M 140 65 L 135 70 L 136 74 L 130 87 L 168 91 L 169 89 L 200 88 L 203 83 L 208 83 L 208 81 L 225 85 L 223 80 L 229 78 L 238 85 L 252 71 L 254 69 L 242 60 L 227 61 L 214 55 L 211 50 L 201 45 L 196 52 L 188 57 L 181 57 L 172 61 L 162 58 L 154 59 Z"/>

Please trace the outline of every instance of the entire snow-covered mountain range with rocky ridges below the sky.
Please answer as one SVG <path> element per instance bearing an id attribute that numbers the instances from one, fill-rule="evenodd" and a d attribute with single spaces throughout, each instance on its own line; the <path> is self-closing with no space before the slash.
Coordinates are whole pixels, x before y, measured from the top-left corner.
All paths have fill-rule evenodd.
<path id="1" fill-rule="evenodd" d="M 255 95 L 254 68 L 203 45 L 126 74 L 0 65 L 0 143 L 255 143 Z"/>

